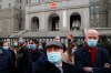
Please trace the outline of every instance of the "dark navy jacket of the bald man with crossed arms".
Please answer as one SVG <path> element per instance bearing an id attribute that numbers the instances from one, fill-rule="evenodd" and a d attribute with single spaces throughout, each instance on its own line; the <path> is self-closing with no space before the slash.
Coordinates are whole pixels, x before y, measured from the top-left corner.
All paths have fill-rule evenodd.
<path id="1" fill-rule="evenodd" d="M 75 51 L 74 61 L 74 66 L 79 73 L 87 73 L 83 71 L 84 66 L 92 67 L 93 73 L 108 73 L 103 66 L 104 63 L 110 63 L 107 50 L 98 48 L 95 53 L 95 64 L 92 66 L 90 51 L 88 51 L 85 46 Z"/>

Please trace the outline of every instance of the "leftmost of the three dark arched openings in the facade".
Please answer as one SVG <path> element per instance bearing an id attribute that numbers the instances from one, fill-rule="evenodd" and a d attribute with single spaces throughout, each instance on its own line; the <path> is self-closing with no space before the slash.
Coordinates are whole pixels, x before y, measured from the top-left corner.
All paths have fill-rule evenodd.
<path id="1" fill-rule="evenodd" d="M 39 19 L 33 17 L 31 20 L 31 31 L 36 32 L 39 30 Z"/>

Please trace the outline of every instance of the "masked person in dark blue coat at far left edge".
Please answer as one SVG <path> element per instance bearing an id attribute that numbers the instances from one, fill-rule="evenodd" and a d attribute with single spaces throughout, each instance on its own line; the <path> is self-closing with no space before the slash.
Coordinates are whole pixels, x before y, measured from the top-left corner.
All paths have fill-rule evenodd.
<path id="1" fill-rule="evenodd" d="M 9 52 L 8 43 L 0 45 L 0 73 L 12 73 L 12 58 Z"/>

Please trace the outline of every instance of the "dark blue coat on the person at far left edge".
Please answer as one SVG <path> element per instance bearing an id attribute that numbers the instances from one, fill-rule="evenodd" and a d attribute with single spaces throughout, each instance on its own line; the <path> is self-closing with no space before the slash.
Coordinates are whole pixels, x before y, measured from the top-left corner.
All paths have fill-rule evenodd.
<path id="1" fill-rule="evenodd" d="M 0 49 L 0 73 L 12 73 L 12 58 Z"/>

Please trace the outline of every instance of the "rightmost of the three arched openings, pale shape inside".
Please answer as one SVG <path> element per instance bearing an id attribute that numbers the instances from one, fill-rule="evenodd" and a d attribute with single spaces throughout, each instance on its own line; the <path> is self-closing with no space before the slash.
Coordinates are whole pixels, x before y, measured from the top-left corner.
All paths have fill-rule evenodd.
<path id="1" fill-rule="evenodd" d="M 78 12 L 74 12 L 70 17 L 70 30 L 80 30 L 81 27 L 81 17 Z"/>

